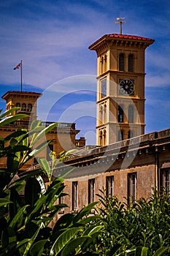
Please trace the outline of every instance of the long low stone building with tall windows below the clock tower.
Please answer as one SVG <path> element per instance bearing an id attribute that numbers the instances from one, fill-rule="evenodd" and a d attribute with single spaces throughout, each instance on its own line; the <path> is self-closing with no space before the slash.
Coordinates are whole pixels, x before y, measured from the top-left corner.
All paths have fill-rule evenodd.
<path id="1" fill-rule="evenodd" d="M 170 129 L 152 132 L 109 146 L 86 147 L 77 151 L 58 167 L 54 173 L 65 173 L 64 203 L 67 211 L 77 211 L 82 206 L 98 200 L 99 189 L 108 196 L 133 203 L 147 198 L 152 188 L 170 188 Z"/>

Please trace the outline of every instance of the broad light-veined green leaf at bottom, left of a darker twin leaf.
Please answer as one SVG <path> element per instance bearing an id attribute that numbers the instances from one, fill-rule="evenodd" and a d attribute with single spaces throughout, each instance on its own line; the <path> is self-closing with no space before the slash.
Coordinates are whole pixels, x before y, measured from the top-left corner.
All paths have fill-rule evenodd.
<path id="1" fill-rule="evenodd" d="M 53 246 L 50 249 L 50 256 L 57 255 L 61 252 L 64 246 L 77 234 L 80 230 L 78 227 L 67 228 L 60 236 L 55 240 Z"/>

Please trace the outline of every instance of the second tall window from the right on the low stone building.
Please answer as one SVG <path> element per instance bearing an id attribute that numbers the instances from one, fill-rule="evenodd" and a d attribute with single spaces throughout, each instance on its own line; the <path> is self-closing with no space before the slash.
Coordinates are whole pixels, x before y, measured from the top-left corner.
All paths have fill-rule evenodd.
<path id="1" fill-rule="evenodd" d="M 128 173 L 128 203 L 136 200 L 136 173 Z"/>

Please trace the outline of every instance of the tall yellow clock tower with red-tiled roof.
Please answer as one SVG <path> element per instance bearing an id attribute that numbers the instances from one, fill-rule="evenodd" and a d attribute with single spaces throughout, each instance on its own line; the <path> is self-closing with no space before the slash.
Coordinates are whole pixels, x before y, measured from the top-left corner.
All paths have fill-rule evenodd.
<path id="1" fill-rule="evenodd" d="M 105 34 L 90 45 L 97 53 L 98 146 L 144 134 L 144 51 L 153 42 Z"/>

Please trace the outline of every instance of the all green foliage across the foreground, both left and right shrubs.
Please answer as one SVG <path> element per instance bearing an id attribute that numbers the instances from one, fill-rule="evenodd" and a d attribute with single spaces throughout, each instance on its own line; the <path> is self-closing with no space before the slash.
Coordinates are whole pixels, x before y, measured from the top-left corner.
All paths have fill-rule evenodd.
<path id="1" fill-rule="evenodd" d="M 12 111 L 0 116 L 0 126 L 26 117 L 4 118 Z M 129 206 L 101 190 L 98 214 L 90 215 L 97 204 L 94 202 L 77 214 L 57 219 L 66 204 L 56 204 L 56 200 L 66 194 L 62 177 L 54 178 L 53 171 L 70 152 L 59 159 L 51 152 L 50 165 L 39 159 L 42 170 L 15 179 L 20 168 L 50 143 L 40 141 L 55 126 L 42 127 L 40 121 L 34 121 L 29 131 L 18 129 L 0 138 L 0 157 L 7 158 L 7 167 L 0 170 L 0 256 L 170 255 L 170 197 L 166 192 L 153 190 L 148 200 L 141 198 Z M 39 184 L 42 173 L 48 179 L 45 192 Z"/>

